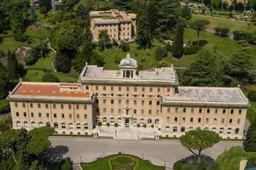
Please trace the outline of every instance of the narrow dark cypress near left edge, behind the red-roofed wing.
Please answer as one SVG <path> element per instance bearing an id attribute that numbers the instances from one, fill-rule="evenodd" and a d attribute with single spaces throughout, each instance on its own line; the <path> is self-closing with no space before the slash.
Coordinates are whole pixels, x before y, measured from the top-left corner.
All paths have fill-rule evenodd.
<path id="1" fill-rule="evenodd" d="M 18 79 L 20 77 L 19 74 L 19 65 L 18 61 L 16 59 L 15 53 L 11 53 L 8 51 L 7 54 L 7 59 L 8 59 L 8 73 L 9 73 L 9 78 L 11 80 Z"/>

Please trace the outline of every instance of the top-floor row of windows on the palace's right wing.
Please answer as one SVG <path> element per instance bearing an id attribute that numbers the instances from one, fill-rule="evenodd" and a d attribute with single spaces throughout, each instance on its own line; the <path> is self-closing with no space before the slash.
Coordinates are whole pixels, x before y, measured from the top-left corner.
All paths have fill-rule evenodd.
<path id="1" fill-rule="evenodd" d="M 222 113 L 225 114 L 227 112 L 227 109 L 210 109 L 210 108 L 207 108 L 207 113 L 211 113 L 212 111 L 214 111 L 214 113 L 218 113 L 218 110 L 222 110 Z M 178 113 L 179 111 L 179 108 L 175 108 L 175 113 Z M 188 108 L 182 108 L 182 112 L 183 113 L 186 113 L 188 111 Z M 203 109 L 202 108 L 199 108 L 198 109 L 198 112 L 199 113 L 202 113 Z M 167 112 L 171 112 L 171 107 L 167 107 Z M 195 112 L 195 108 L 190 108 L 190 113 L 194 113 Z M 241 114 L 241 109 L 238 110 L 238 113 Z M 234 114 L 234 109 L 230 109 L 230 114 Z"/>

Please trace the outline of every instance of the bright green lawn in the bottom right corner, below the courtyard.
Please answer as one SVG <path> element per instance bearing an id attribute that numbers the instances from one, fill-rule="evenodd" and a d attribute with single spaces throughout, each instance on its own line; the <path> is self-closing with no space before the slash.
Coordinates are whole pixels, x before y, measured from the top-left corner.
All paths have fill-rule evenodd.
<path id="1" fill-rule="evenodd" d="M 239 169 L 239 163 L 241 159 L 245 159 L 251 156 L 256 156 L 256 152 L 246 152 L 241 147 L 234 147 L 225 151 L 218 156 L 218 169 L 219 170 L 235 170 Z"/>

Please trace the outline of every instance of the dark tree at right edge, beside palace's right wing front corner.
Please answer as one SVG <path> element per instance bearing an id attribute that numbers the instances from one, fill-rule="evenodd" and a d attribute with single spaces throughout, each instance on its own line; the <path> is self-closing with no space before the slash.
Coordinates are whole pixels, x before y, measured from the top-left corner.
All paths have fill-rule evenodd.
<path id="1" fill-rule="evenodd" d="M 256 151 L 256 122 L 252 122 L 248 128 L 246 139 L 243 142 L 244 150 L 248 152 Z"/>

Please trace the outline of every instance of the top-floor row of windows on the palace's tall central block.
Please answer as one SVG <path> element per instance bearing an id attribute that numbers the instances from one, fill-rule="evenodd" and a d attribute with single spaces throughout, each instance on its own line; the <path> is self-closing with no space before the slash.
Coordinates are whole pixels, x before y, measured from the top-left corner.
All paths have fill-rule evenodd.
<path id="1" fill-rule="evenodd" d="M 86 89 L 89 89 L 89 86 L 85 86 L 85 88 L 86 88 Z M 99 86 L 96 86 L 95 88 L 96 88 L 96 90 L 99 90 Z M 106 86 L 101 86 L 101 88 L 102 88 L 103 91 L 106 91 L 106 90 L 107 90 L 107 87 L 106 87 Z M 131 87 L 121 87 L 121 86 L 118 87 L 118 91 L 119 91 L 119 92 L 120 92 L 120 91 L 129 92 L 130 90 L 131 90 L 132 92 L 137 92 L 138 89 L 140 89 L 140 91 L 142 91 L 142 92 L 145 92 L 145 91 L 146 91 L 146 88 L 144 88 L 144 87 L 140 87 L 140 88 L 134 87 L 132 90 L 131 90 Z M 149 91 L 149 92 L 153 92 L 154 89 L 155 89 L 155 88 L 148 88 L 148 91 Z M 114 87 L 111 86 L 111 87 L 110 87 L 110 90 L 113 91 L 113 90 L 114 90 Z M 166 88 L 166 90 L 167 90 L 167 92 L 171 92 L 171 88 Z M 156 91 L 157 91 L 157 92 L 160 92 L 160 88 L 156 88 Z"/>

